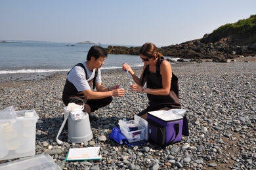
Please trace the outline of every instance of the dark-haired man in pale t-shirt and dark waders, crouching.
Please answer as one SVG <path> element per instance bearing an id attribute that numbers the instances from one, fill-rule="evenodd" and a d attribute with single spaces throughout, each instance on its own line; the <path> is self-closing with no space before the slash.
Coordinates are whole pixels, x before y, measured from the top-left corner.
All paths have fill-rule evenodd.
<path id="1" fill-rule="evenodd" d="M 96 120 L 91 112 L 105 107 L 112 102 L 112 96 L 121 97 L 125 90 L 120 85 L 104 87 L 101 84 L 100 67 L 108 57 L 108 53 L 101 46 L 92 46 L 87 54 L 87 61 L 75 65 L 66 78 L 62 101 L 83 105 L 84 112 L 89 114 L 90 120 Z M 91 85 L 96 91 L 91 90 Z"/>

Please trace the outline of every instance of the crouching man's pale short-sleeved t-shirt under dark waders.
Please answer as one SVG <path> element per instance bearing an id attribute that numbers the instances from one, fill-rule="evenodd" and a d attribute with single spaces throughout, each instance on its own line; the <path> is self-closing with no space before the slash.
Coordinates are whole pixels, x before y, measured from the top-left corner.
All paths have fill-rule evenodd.
<path id="1" fill-rule="evenodd" d="M 74 84 L 75 88 L 78 92 L 84 91 L 84 90 L 91 90 L 91 87 L 89 86 L 89 81 L 93 79 L 95 76 L 95 70 L 90 71 L 85 61 L 82 62 L 82 64 L 85 66 L 85 69 L 87 71 L 88 80 L 86 80 L 85 70 L 81 66 L 75 66 L 70 73 L 68 73 L 68 80 Z M 101 82 L 101 75 L 100 75 L 100 69 L 98 69 L 98 75 L 96 76 L 95 82 Z"/>

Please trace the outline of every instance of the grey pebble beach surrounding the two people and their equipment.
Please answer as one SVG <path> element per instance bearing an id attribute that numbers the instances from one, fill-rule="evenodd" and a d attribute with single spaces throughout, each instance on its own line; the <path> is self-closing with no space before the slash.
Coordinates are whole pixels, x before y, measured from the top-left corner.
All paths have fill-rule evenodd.
<path id="1" fill-rule="evenodd" d="M 68 143 L 66 127 L 59 137 L 64 143 L 55 141 L 63 121 L 66 72 L 3 75 L 0 110 L 34 109 L 39 116 L 35 154 L 49 154 L 61 169 L 256 169 L 256 61 L 175 63 L 172 69 L 190 135 L 166 147 L 126 146 L 109 138 L 118 120 L 133 120 L 148 105 L 145 93 L 129 90 L 121 69 L 102 70 L 102 84 L 121 84 L 125 95 L 94 112 L 98 120 L 91 121 L 90 141 Z M 135 74 L 141 71 L 136 68 Z M 64 160 L 70 148 L 89 146 L 102 147 L 102 160 Z"/>

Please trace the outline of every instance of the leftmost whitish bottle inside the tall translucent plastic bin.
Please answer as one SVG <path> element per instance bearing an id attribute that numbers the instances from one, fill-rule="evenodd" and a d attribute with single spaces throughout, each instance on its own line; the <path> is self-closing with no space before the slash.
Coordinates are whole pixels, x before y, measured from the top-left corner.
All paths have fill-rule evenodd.
<path id="1" fill-rule="evenodd" d="M 3 126 L 3 138 L 5 139 L 5 144 L 9 150 L 14 150 L 20 146 L 17 132 L 12 124 Z"/>

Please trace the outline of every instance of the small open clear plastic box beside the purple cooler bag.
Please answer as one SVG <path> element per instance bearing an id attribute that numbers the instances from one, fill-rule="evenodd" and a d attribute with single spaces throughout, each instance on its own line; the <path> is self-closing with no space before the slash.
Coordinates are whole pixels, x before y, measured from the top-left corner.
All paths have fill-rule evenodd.
<path id="1" fill-rule="evenodd" d="M 133 124 L 134 126 L 138 127 L 138 130 L 129 131 L 127 125 L 123 124 L 123 122 L 119 122 L 119 127 L 121 133 L 125 136 L 129 143 L 134 143 L 137 141 L 146 140 L 148 141 L 148 122 L 143 118 L 135 115 L 135 120 L 129 120 L 125 122 L 126 124 Z"/>

